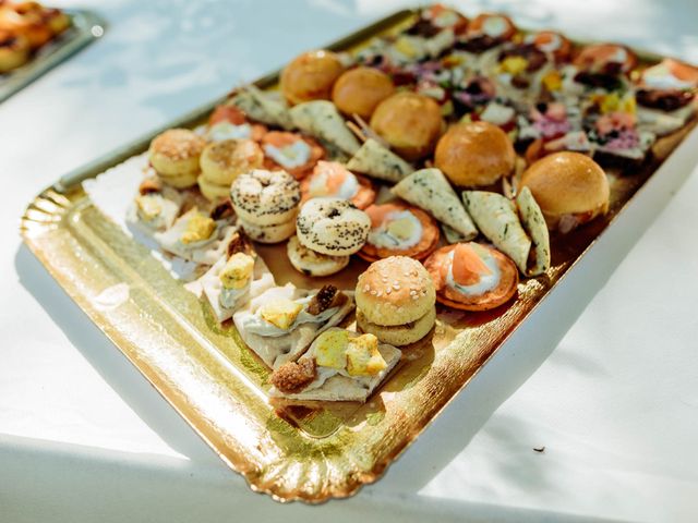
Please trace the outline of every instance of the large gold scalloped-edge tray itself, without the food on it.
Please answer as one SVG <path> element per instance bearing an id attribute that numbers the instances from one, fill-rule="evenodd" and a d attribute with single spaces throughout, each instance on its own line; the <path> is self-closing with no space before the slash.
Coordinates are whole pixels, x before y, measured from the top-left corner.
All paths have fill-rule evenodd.
<path id="1" fill-rule="evenodd" d="M 400 11 L 328 47 L 353 49 L 405 27 L 414 14 Z M 257 85 L 269 88 L 276 80 L 275 73 Z M 220 101 L 167 127 L 196 125 Z M 160 131 L 44 191 L 22 218 L 22 235 L 89 318 L 252 489 L 278 501 L 320 502 L 350 496 L 381 477 L 573 269 L 694 125 L 660 141 L 657 160 L 638 172 L 610 172 L 610 212 L 553 238 L 552 268 L 522 280 L 518 299 L 486 313 L 441 308 L 434 332 L 404 351 L 396 370 L 363 405 L 272 401 L 269 372 L 234 327 L 219 326 L 205 301 L 185 291 L 92 205 L 81 182 L 145 151 Z M 311 279 L 290 267 L 284 246 L 258 246 L 257 252 L 279 284 L 318 288 L 332 281 L 352 289 L 366 267 L 354 259 L 338 278 Z"/>

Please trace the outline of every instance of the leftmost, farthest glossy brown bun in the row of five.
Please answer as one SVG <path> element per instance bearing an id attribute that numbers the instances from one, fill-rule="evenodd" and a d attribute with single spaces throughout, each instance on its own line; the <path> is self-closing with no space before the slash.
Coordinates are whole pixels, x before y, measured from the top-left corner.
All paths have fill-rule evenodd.
<path id="1" fill-rule="evenodd" d="M 328 100 L 332 86 L 344 69 L 339 57 L 332 51 L 304 52 L 281 72 L 281 93 L 290 105 Z"/>

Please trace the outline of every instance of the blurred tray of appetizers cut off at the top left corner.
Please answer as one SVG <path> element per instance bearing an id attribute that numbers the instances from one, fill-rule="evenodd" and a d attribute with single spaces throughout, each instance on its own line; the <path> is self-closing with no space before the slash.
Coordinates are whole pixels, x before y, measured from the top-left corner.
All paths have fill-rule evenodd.
<path id="1" fill-rule="evenodd" d="M 104 34 L 88 11 L 0 1 L 0 101 Z"/>

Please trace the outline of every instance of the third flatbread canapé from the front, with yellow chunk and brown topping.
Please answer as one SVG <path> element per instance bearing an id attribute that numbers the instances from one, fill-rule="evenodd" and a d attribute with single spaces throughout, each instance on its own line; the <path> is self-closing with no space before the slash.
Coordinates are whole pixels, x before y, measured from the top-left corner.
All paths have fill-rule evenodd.
<path id="1" fill-rule="evenodd" d="M 221 324 L 251 299 L 275 285 L 274 276 L 241 231 L 228 243 L 226 256 L 216 262 L 200 282 Z"/>

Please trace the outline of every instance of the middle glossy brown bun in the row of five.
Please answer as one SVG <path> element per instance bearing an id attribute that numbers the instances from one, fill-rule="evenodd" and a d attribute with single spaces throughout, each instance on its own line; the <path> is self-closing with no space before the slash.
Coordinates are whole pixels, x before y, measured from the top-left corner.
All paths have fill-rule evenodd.
<path id="1" fill-rule="evenodd" d="M 376 107 L 371 127 L 407 160 L 417 160 L 434 150 L 444 121 L 432 98 L 417 93 L 397 93 Z"/>

